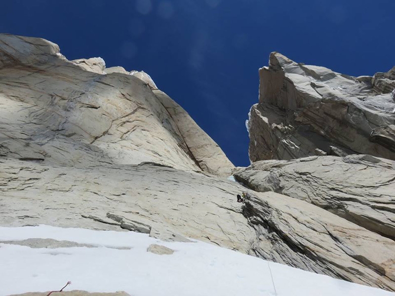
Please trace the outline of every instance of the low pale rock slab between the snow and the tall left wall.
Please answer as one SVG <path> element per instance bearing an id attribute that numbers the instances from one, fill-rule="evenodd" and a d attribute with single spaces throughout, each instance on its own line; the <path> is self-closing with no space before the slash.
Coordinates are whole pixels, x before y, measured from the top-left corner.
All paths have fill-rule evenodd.
<path id="1" fill-rule="evenodd" d="M 248 253 L 236 182 L 156 164 L 89 168 L 0 160 L 0 224 L 131 230 Z M 251 191 L 252 192 L 252 191 Z"/>

